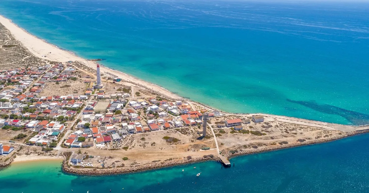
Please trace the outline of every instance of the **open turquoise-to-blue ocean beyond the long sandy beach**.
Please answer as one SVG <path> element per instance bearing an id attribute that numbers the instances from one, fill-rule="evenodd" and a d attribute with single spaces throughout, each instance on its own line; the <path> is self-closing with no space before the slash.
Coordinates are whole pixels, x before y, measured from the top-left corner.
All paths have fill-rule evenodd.
<path id="1" fill-rule="evenodd" d="M 0 14 L 224 111 L 369 123 L 369 2 L 1 0 Z"/>

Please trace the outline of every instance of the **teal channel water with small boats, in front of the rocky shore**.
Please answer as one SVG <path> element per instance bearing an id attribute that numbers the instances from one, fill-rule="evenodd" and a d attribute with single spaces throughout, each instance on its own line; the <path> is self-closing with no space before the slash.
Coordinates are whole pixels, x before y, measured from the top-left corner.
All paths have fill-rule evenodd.
<path id="1" fill-rule="evenodd" d="M 0 171 L 0 192 L 362 193 L 369 192 L 368 140 L 365 134 L 237 157 L 231 168 L 202 162 L 114 176 L 65 174 L 60 161 L 20 162 Z"/>

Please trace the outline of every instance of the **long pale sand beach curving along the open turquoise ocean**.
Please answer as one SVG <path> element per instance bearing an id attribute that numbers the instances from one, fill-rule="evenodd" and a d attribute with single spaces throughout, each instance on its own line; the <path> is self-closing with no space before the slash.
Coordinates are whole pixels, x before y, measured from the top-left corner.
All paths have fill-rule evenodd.
<path id="1" fill-rule="evenodd" d="M 31 35 L 27 31 L 25 31 L 23 28 L 20 28 L 13 22 L 11 22 L 10 19 L 7 19 L 0 15 L 0 22 L 3 24 L 13 35 L 14 37 L 23 43 L 27 49 L 34 54 L 35 56 L 39 58 L 44 58 L 51 61 L 58 61 L 58 62 L 68 62 L 68 61 L 79 61 L 86 65 L 87 67 L 91 67 L 92 69 L 96 69 L 96 62 L 94 61 L 87 61 L 86 59 L 77 57 L 75 54 L 62 50 L 58 48 L 55 45 L 52 45 L 45 40 L 39 39 L 36 36 Z M 51 52 L 51 53 L 50 53 Z M 46 56 L 46 57 L 43 57 Z M 94 59 L 94 58 L 91 58 Z M 173 99 L 182 98 L 169 90 L 164 89 L 163 87 L 160 87 L 158 85 L 142 81 L 138 78 L 135 78 L 133 76 L 127 75 L 123 72 L 115 71 L 113 69 L 107 68 L 107 67 L 100 67 L 101 72 L 108 72 L 110 74 L 116 75 L 120 77 L 123 81 L 127 82 L 134 82 L 137 85 L 142 85 L 144 87 L 147 87 L 149 89 L 153 89 L 156 92 L 161 93 L 163 96 L 167 96 Z"/>

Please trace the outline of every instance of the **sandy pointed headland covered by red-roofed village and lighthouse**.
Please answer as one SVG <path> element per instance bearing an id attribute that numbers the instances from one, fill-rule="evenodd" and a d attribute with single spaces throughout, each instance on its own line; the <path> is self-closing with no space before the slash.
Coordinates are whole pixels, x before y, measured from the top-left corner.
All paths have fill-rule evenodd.
<path id="1" fill-rule="evenodd" d="M 92 175 L 207 160 L 230 166 L 233 156 L 368 129 L 223 112 L 92 62 L 99 59 L 65 61 L 54 48 L 37 57 L 0 31 L 0 166 L 61 159 L 65 172 Z"/>

